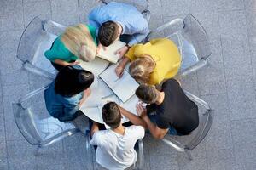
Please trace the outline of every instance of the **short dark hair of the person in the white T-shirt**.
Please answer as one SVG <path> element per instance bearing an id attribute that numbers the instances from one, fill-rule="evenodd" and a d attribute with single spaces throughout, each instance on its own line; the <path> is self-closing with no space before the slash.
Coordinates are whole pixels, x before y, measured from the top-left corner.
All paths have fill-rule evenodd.
<path id="1" fill-rule="evenodd" d="M 102 107 L 102 118 L 109 127 L 116 128 L 119 127 L 121 122 L 121 113 L 119 106 L 114 102 L 108 102 Z"/>

